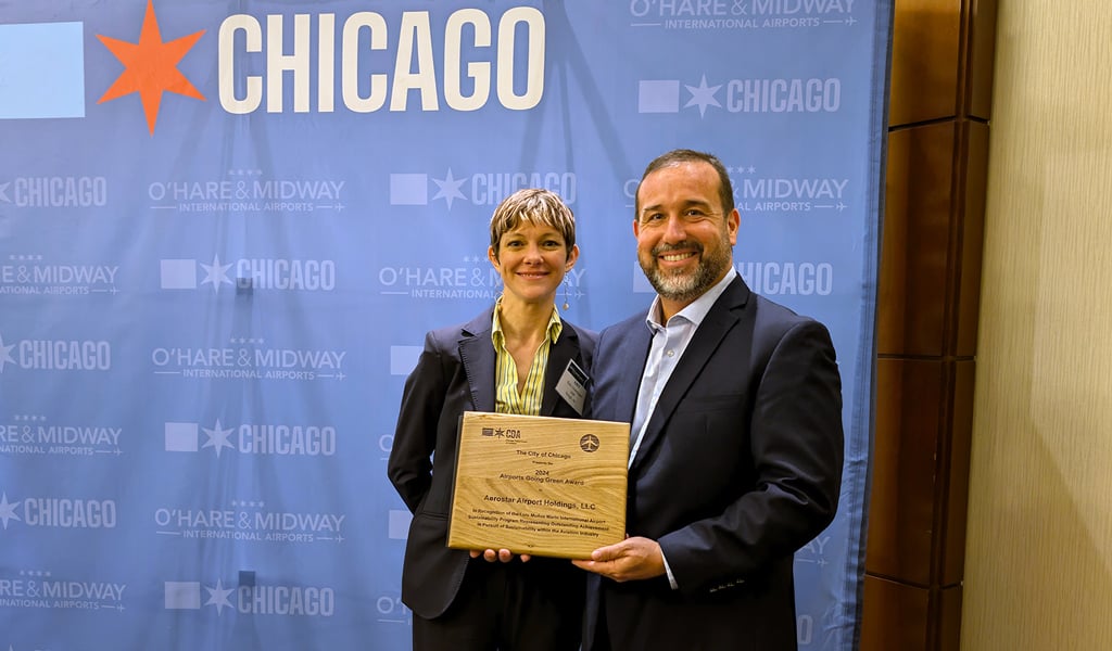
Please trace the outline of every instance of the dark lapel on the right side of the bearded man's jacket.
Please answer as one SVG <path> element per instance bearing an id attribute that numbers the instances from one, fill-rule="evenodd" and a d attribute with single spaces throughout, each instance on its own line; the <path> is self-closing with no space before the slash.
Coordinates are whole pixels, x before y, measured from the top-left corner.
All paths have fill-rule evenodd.
<path id="1" fill-rule="evenodd" d="M 745 306 L 748 296 L 749 289 L 745 286 L 741 277 L 738 277 L 729 283 L 726 291 L 718 297 L 714 307 L 707 312 L 692 337 L 691 342 L 687 343 L 687 348 L 684 350 L 683 357 L 679 358 L 679 362 L 672 372 L 672 377 L 668 378 L 668 383 L 664 385 L 664 391 L 661 392 L 661 399 L 657 400 L 656 407 L 653 409 L 653 414 L 648 419 L 645 437 L 641 441 L 637 458 L 634 459 L 631 470 L 637 468 L 638 463 L 645 458 L 646 452 L 663 435 L 664 425 L 672 419 L 672 413 L 676 410 L 679 401 L 687 394 L 692 384 L 698 380 L 703 368 L 706 367 L 707 361 L 711 360 L 711 355 L 718 349 L 722 340 L 737 324 L 739 314 L 736 309 Z M 634 397 L 634 400 L 636 400 L 636 397 Z"/>

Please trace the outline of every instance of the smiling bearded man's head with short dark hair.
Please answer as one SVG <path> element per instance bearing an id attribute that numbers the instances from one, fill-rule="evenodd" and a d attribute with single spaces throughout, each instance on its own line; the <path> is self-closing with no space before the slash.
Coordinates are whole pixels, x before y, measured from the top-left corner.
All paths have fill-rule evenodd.
<path id="1" fill-rule="evenodd" d="M 737 210 L 723 214 L 718 174 L 684 162 L 645 177 L 637 191 L 637 261 L 671 317 L 722 280 L 733 264 Z"/>

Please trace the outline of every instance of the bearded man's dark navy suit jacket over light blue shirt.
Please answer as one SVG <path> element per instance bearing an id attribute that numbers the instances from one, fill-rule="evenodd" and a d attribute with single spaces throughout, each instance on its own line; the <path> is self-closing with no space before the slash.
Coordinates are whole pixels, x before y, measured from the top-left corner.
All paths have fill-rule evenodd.
<path id="1" fill-rule="evenodd" d="M 642 313 L 603 331 L 592 418 L 631 421 L 651 343 Z M 626 528 L 666 577 L 587 580 L 584 650 L 796 648 L 793 553 L 834 518 L 842 393 L 826 328 L 737 278 L 668 379 L 629 469 Z"/>

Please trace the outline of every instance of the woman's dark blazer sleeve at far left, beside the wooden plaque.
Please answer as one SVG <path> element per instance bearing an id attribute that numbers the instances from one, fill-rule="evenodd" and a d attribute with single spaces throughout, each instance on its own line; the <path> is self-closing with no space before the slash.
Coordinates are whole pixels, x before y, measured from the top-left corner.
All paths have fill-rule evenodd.
<path id="1" fill-rule="evenodd" d="M 390 483 L 410 512 L 416 512 L 433 484 L 431 455 L 436 448 L 437 423 L 447 393 L 444 353 L 431 332 L 417 367 L 406 379 L 401 407 L 387 463 Z"/>

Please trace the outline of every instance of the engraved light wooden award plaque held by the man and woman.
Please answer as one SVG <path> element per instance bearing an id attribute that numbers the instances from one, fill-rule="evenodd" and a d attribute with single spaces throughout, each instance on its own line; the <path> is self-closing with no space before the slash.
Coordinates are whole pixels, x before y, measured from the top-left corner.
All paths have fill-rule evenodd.
<path id="1" fill-rule="evenodd" d="M 586 559 L 625 539 L 629 424 L 468 411 L 448 547 Z"/>

